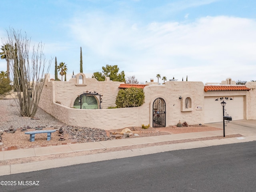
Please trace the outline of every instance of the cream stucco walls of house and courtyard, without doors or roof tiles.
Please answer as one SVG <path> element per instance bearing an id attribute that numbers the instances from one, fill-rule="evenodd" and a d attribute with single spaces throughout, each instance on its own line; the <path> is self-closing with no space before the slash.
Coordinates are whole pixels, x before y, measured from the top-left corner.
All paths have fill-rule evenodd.
<path id="1" fill-rule="evenodd" d="M 180 122 L 204 124 L 204 98 L 208 96 L 245 97 L 245 118 L 256 119 L 256 83 L 246 86 L 248 91 L 208 91 L 204 92 L 202 82 L 168 81 L 163 85 L 148 85 L 144 88 L 145 103 L 135 108 L 107 109 L 115 106 L 120 82 L 98 82 L 86 78 L 84 84 L 78 85 L 76 79 L 69 82 L 47 82 L 44 86 L 39 107 L 70 126 L 84 126 L 105 130 L 125 128 L 128 126 L 153 125 L 153 102 L 162 98 L 166 102 L 166 126 Z M 72 108 L 75 98 L 84 91 L 96 91 L 102 97 L 102 109 Z M 180 100 L 179 97 L 182 97 Z M 185 108 L 185 99 L 192 101 L 191 108 Z M 61 104 L 57 104 L 56 101 Z"/>

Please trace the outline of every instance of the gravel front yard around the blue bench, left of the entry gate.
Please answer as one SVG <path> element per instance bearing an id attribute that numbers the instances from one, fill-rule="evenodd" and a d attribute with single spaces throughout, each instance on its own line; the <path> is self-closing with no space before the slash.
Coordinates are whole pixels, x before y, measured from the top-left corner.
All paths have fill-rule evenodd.
<path id="1" fill-rule="evenodd" d="M 104 129 L 88 128 L 88 127 L 75 127 L 67 126 L 62 122 L 56 120 L 50 114 L 47 114 L 41 108 L 38 108 L 35 118 L 22 117 L 19 113 L 18 104 L 14 100 L 0 100 L 0 131 L 8 130 L 11 126 L 14 128 L 14 133 L 4 132 L 2 135 L 2 144 L 0 148 L 18 146 L 18 148 L 30 148 L 38 146 L 49 146 L 54 144 L 70 144 L 70 143 L 84 143 L 84 142 L 97 142 L 104 140 L 113 140 L 116 138 L 126 138 L 122 134 L 118 134 L 122 129 L 105 131 Z M 38 118 L 38 119 L 37 119 Z M 37 120 L 36 120 L 37 119 Z M 30 142 L 30 135 L 24 134 L 23 128 L 29 127 L 26 131 L 34 131 L 36 128 L 43 129 L 56 129 L 52 133 L 50 141 L 46 141 L 47 134 L 36 134 L 35 142 Z M 60 141 L 58 136 L 58 129 L 64 130 L 65 140 Z M 157 136 L 170 134 L 167 132 L 159 132 L 155 128 L 148 128 L 146 130 L 141 127 L 129 127 L 134 133 L 138 134 L 136 137 Z M 112 132 L 116 134 L 112 135 Z M 134 138 L 130 135 L 129 138 Z"/>

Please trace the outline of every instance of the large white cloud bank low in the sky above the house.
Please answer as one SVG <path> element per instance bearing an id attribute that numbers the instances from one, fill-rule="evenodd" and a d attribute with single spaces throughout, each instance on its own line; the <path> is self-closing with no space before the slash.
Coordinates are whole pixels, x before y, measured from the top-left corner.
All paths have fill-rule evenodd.
<path id="1" fill-rule="evenodd" d="M 191 23 L 136 22 L 91 15 L 70 26 L 74 36 L 101 60 L 98 68 L 117 64 L 139 82 L 156 78 L 220 82 L 254 79 L 256 22 L 227 16 Z M 98 58 L 98 59 L 99 59 Z"/>

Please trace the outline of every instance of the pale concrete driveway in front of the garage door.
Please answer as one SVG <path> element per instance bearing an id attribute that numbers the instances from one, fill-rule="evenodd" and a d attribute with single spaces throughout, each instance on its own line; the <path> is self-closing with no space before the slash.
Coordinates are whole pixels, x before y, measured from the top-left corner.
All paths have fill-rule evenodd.
<path id="1" fill-rule="evenodd" d="M 207 123 L 207 126 L 223 129 L 223 122 Z M 225 135 L 241 134 L 243 136 L 256 136 L 256 120 L 236 120 L 230 121 L 225 126 Z"/>

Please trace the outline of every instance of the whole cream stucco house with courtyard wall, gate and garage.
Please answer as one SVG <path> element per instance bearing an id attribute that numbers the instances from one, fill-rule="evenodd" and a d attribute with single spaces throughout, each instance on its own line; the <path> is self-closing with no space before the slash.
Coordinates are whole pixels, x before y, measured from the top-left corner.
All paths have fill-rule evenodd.
<path id="1" fill-rule="evenodd" d="M 143 88 L 145 103 L 134 108 L 113 108 L 121 88 Z M 71 126 L 105 130 L 141 126 L 172 126 L 178 122 L 206 124 L 222 121 L 221 102 L 232 120 L 256 119 L 256 82 L 236 85 L 231 78 L 221 83 L 168 81 L 146 85 L 104 82 L 78 73 L 68 82 L 50 81 L 42 90 L 39 106 Z M 82 101 L 80 98 L 82 95 Z"/>

